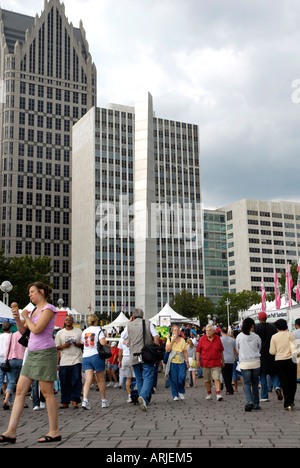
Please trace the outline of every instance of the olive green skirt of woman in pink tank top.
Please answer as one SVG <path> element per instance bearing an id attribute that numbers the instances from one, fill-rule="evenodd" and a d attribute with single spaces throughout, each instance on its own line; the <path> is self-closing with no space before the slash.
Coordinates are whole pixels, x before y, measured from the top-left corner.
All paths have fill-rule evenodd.
<path id="1" fill-rule="evenodd" d="M 28 351 L 21 375 L 31 380 L 55 382 L 57 380 L 57 349 Z"/>

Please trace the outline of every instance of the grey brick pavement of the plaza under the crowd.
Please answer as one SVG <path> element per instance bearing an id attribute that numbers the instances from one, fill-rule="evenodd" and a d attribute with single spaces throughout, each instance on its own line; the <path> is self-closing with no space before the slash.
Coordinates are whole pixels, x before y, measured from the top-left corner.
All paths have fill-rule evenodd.
<path id="1" fill-rule="evenodd" d="M 147 413 L 126 403 L 123 389 L 107 389 L 109 408 L 102 409 L 100 394 L 90 393 L 91 411 L 81 408 L 59 410 L 63 440 L 56 448 L 105 449 L 193 449 L 193 448 L 293 448 L 300 444 L 299 385 L 296 407 L 287 412 L 274 393 L 262 403 L 260 412 L 244 412 L 244 393 L 224 395 L 222 402 L 205 400 L 202 379 L 196 389 L 186 390 L 184 401 L 173 401 L 159 375 L 157 393 Z M 58 394 L 59 400 L 59 394 Z M 21 418 L 16 445 L 1 448 L 42 448 L 37 439 L 48 431 L 46 410 L 29 409 Z M 0 433 L 8 424 L 10 412 L 0 408 Z"/>

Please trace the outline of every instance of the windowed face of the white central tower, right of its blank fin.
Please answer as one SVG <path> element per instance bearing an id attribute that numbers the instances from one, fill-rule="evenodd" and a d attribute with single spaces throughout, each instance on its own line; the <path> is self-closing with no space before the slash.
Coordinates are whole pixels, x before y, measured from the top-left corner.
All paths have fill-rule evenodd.
<path id="1" fill-rule="evenodd" d="M 180 291 L 205 294 L 199 128 L 154 118 L 157 310 Z"/>

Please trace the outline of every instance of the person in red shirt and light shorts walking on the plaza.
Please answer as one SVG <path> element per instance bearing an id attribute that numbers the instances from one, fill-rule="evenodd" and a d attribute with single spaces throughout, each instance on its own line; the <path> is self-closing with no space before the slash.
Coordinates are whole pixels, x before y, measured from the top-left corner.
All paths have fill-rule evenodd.
<path id="1" fill-rule="evenodd" d="M 206 326 L 206 334 L 203 335 L 196 349 L 197 367 L 203 370 L 204 383 L 207 391 L 207 400 L 211 400 L 211 381 L 214 380 L 217 400 L 223 400 L 221 395 L 221 370 L 224 367 L 223 345 L 220 337 L 214 333 L 212 325 Z"/>

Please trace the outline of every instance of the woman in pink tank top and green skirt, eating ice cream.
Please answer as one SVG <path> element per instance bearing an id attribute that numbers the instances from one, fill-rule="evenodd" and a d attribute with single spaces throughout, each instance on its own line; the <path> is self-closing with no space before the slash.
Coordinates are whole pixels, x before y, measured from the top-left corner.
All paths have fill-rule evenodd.
<path id="1" fill-rule="evenodd" d="M 25 326 L 21 322 L 19 311 L 13 311 L 19 332 L 23 334 L 26 329 L 29 329 L 30 338 L 28 357 L 18 381 L 9 426 L 7 431 L 0 436 L 0 444 L 16 442 L 25 396 L 35 380 L 39 381 L 41 392 L 46 400 L 50 426 L 48 434 L 40 437 L 38 442 L 48 443 L 61 440 L 58 428 L 58 405 L 54 395 L 54 381 L 57 378 L 57 349 L 53 339 L 53 330 L 57 311 L 47 301 L 51 293 L 51 288 L 40 282 L 28 287 L 30 301 L 36 308 L 31 315 L 27 310 L 23 310 Z"/>

